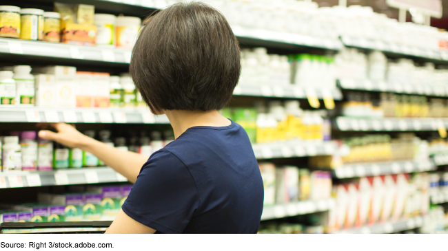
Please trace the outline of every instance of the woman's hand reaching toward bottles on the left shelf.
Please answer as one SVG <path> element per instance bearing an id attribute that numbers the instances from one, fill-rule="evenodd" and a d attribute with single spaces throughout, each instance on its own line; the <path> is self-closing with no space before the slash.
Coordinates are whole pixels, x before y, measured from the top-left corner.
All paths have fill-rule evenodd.
<path id="1" fill-rule="evenodd" d="M 39 137 L 44 140 L 53 140 L 64 146 L 70 148 L 83 148 L 89 140 L 92 140 L 88 136 L 80 133 L 70 124 L 65 123 L 54 123 L 54 124 L 38 124 L 41 128 L 46 128 L 48 126 L 56 129 L 57 133 L 48 130 L 39 131 Z"/>

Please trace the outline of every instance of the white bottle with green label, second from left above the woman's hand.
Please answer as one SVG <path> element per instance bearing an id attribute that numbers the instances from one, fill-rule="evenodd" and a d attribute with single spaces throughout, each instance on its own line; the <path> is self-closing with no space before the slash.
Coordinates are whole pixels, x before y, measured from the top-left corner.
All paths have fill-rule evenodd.
<path id="1" fill-rule="evenodd" d="M 30 65 L 14 66 L 14 80 L 16 81 L 16 105 L 34 107 L 34 76 L 30 74 Z"/>

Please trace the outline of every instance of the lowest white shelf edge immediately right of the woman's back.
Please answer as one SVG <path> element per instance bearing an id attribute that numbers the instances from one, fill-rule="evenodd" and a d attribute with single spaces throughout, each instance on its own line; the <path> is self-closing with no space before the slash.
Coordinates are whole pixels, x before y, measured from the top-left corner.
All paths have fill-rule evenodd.
<path id="1" fill-rule="evenodd" d="M 264 206 L 261 220 L 280 219 L 296 215 L 306 215 L 313 212 L 324 212 L 334 208 L 334 199 L 320 199 L 316 201 L 296 201 L 287 204 Z"/>

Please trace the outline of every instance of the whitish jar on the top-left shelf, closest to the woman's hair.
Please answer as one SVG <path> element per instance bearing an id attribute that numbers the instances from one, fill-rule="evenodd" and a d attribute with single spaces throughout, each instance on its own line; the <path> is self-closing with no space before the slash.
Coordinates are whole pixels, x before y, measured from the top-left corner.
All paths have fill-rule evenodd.
<path id="1" fill-rule="evenodd" d="M 132 49 L 141 25 L 139 17 L 116 18 L 116 47 Z"/>

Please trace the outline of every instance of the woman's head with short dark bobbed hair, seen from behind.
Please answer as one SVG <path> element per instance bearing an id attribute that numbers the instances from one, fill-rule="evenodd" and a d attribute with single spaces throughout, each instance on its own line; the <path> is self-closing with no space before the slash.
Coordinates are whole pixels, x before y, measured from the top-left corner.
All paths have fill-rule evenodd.
<path id="1" fill-rule="evenodd" d="M 130 64 L 153 113 L 221 109 L 240 72 L 240 48 L 230 25 L 205 3 L 176 3 L 148 18 Z"/>

